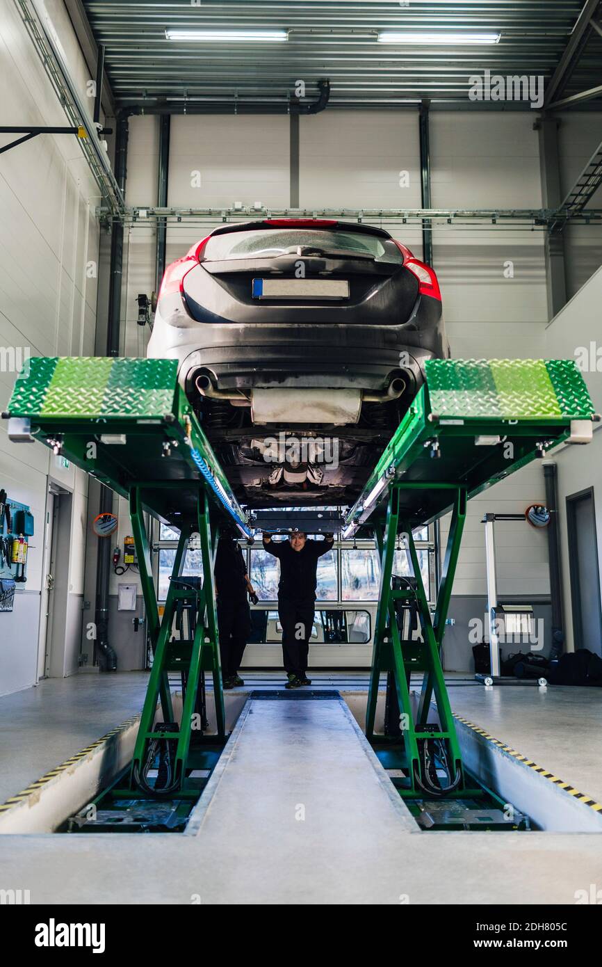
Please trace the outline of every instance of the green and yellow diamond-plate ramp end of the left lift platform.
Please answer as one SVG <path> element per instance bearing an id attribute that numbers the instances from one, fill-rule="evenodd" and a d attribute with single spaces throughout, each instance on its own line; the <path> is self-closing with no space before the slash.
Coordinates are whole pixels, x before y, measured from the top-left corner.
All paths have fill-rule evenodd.
<path id="1" fill-rule="evenodd" d="M 20 417 L 161 417 L 171 413 L 177 360 L 35 358 L 17 378 Z"/>

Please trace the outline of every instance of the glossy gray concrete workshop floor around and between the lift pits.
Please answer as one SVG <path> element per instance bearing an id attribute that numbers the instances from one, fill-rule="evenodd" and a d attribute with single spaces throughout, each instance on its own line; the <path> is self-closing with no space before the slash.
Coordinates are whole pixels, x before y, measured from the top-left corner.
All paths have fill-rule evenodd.
<path id="1" fill-rule="evenodd" d="M 10 791 L 139 711 L 144 679 L 81 676 L 0 699 Z M 246 688 L 271 680 L 250 673 Z M 450 694 L 458 714 L 598 795 L 598 689 L 456 680 Z M 195 835 L 2 835 L 0 888 L 33 903 L 394 905 L 573 903 L 602 888 L 601 835 L 419 832 L 337 702 L 256 701 L 233 739 Z"/>

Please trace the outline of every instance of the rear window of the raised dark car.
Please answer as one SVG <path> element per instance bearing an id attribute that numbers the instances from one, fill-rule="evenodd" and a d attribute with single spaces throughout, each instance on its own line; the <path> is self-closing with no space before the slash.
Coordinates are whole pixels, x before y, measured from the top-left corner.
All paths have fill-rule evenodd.
<path id="1" fill-rule="evenodd" d="M 285 252 L 295 253 L 300 246 L 316 247 L 326 253 L 357 252 L 379 262 L 403 262 L 397 246 L 376 235 L 302 228 L 259 228 L 214 235 L 205 247 L 203 258 L 212 262 L 228 258 L 273 258 Z"/>

